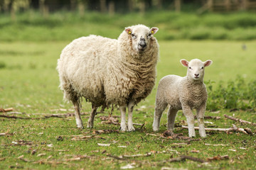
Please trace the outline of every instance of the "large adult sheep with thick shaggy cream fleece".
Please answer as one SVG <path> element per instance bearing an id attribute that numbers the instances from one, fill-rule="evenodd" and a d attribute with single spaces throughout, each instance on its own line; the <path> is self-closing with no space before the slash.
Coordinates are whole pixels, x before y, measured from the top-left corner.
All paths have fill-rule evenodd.
<path id="1" fill-rule="evenodd" d="M 60 89 L 64 99 L 74 105 L 78 128 L 83 128 L 80 117 L 83 97 L 92 103 L 87 128 L 93 128 L 97 108 L 119 106 L 121 130 L 135 130 L 134 105 L 146 98 L 154 87 L 159 58 L 159 44 L 154 34 L 158 30 L 144 25 L 130 26 L 117 40 L 90 35 L 73 40 L 63 49 L 57 66 Z"/>

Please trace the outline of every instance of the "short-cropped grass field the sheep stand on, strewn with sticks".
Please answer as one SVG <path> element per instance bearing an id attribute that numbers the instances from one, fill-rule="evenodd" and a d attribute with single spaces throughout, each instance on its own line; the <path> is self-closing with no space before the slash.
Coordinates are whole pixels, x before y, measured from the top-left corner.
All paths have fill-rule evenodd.
<path id="1" fill-rule="evenodd" d="M 108 116 L 110 110 L 96 116 L 92 130 L 76 128 L 74 116 L 45 118 L 46 113 L 73 113 L 68 111 L 73 109 L 72 105 L 63 102 L 55 70 L 60 52 L 67 44 L 67 41 L 0 43 L 0 108 L 14 108 L 14 111 L 22 114 L 13 115 L 33 118 L 0 118 L 0 169 L 119 169 L 127 164 L 132 164 L 135 169 L 256 169 L 255 135 L 208 132 L 208 137 L 201 139 L 196 132 L 197 137 L 193 139 L 171 139 L 162 136 L 166 130 L 166 114 L 161 120 L 160 131 L 152 132 L 156 88 L 136 106 L 134 123 L 145 125 L 142 128 L 137 125 L 135 132 L 119 132 L 119 125 L 102 124 L 100 117 Z M 186 68 L 179 63 L 182 58 L 213 60 L 213 64 L 206 68 L 205 75 L 206 81 L 216 81 L 213 88 L 219 83 L 234 81 L 237 75 L 244 77 L 245 81 L 255 80 L 255 41 L 161 40 L 159 45 L 161 57 L 157 65 L 156 87 L 159 79 L 166 74 L 185 76 Z M 246 45 L 246 50 L 242 49 L 242 45 Z M 60 108 L 67 111 L 60 111 Z M 83 101 L 84 123 L 89 111 L 90 104 Z M 239 128 L 250 128 L 255 134 L 256 128 L 252 125 L 228 120 L 223 117 L 224 114 L 251 122 L 255 122 L 256 118 L 253 109 L 235 112 L 224 109 L 217 113 L 207 111 L 206 115 L 220 116 L 220 119 L 206 120 L 213 123 L 206 123 L 206 127 L 230 128 L 235 124 Z M 113 115 L 119 120 L 117 109 Z M 186 118 L 180 111 L 175 132 L 188 136 L 188 130 L 180 127 L 186 125 L 183 120 Z M 110 146 L 102 147 L 97 143 Z M 137 154 L 148 156 L 117 158 Z M 206 163 L 191 160 L 169 162 L 171 158 L 181 155 L 203 160 L 215 157 L 215 160 Z M 218 160 L 218 155 L 228 155 L 228 159 Z"/>

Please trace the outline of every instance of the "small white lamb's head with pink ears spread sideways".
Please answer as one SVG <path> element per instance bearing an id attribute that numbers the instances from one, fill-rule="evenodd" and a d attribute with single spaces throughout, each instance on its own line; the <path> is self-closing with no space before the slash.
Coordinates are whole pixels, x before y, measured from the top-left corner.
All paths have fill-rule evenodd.
<path id="1" fill-rule="evenodd" d="M 204 69 L 205 67 L 212 64 L 211 60 L 207 60 L 206 62 L 202 62 L 198 59 L 193 59 L 190 62 L 187 60 L 181 60 L 181 64 L 185 67 L 188 67 L 187 77 L 189 79 L 193 79 L 195 81 L 203 81 Z"/>

